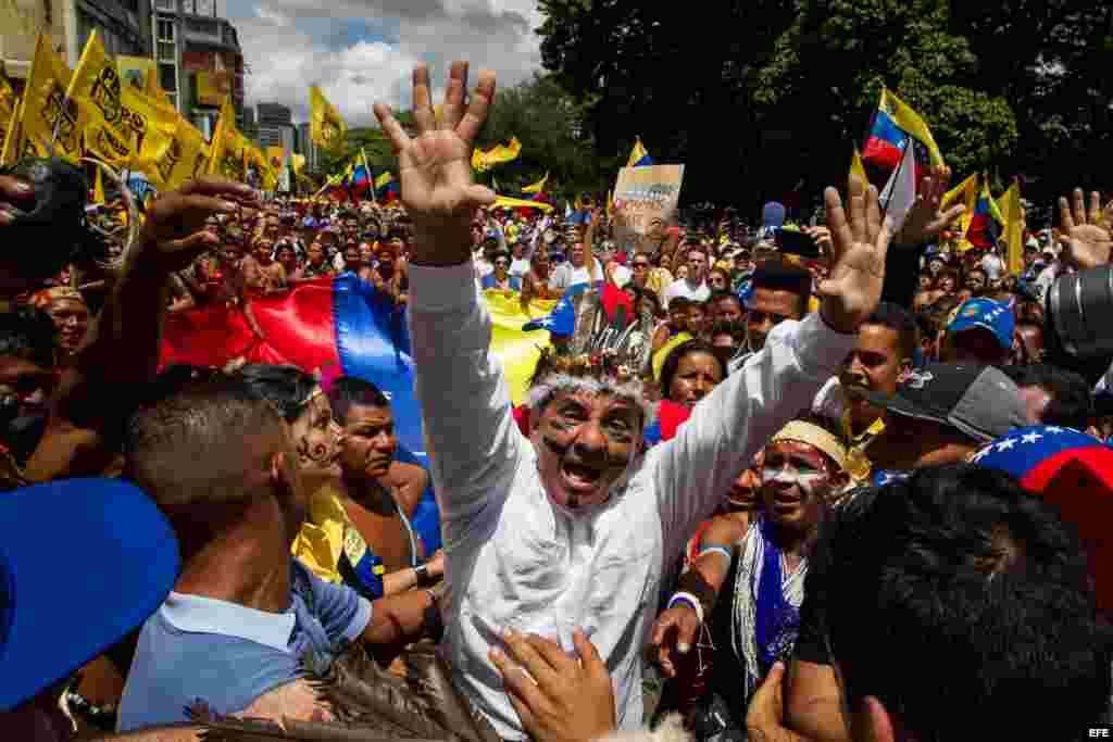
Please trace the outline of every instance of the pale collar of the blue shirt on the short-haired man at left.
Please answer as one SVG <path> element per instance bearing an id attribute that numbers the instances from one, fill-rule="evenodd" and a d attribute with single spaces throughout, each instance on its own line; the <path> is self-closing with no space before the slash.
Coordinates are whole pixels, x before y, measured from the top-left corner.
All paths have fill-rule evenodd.
<path id="1" fill-rule="evenodd" d="M 178 631 L 235 636 L 284 652 L 294 632 L 293 611 L 267 613 L 200 595 L 171 592 L 159 612 Z"/>

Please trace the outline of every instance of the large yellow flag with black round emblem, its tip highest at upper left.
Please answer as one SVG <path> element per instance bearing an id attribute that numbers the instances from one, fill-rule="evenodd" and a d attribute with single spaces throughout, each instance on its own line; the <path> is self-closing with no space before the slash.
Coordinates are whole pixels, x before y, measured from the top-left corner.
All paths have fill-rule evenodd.
<path id="1" fill-rule="evenodd" d="M 116 168 L 142 172 L 157 186 L 165 186 L 158 162 L 177 133 L 177 113 L 170 115 L 120 78 L 96 30 L 73 70 L 68 96 L 89 113 L 86 150 Z"/>

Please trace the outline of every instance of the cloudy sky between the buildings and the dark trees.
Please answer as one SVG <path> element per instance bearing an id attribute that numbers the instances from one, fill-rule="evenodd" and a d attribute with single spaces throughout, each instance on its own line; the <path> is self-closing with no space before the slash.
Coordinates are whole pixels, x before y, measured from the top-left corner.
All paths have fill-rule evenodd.
<path id="1" fill-rule="evenodd" d="M 535 0 L 220 0 L 217 10 L 239 33 L 247 102 L 285 103 L 295 121 L 308 118 L 311 85 L 349 126 L 373 122 L 378 100 L 408 108 L 417 60 L 430 63 L 436 102 L 454 59 L 471 62 L 469 87 L 480 68 L 500 88 L 541 68 Z"/>

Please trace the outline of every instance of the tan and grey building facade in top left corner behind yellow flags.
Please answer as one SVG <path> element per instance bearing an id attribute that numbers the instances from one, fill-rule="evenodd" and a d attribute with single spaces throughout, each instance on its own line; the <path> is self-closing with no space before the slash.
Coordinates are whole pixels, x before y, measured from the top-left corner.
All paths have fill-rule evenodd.
<path id="1" fill-rule="evenodd" d="M 40 33 L 76 67 L 93 29 L 110 55 L 150 57 L 151 0 L 7 0 L 0 2 L 0 59 L 21 87 Z"/>

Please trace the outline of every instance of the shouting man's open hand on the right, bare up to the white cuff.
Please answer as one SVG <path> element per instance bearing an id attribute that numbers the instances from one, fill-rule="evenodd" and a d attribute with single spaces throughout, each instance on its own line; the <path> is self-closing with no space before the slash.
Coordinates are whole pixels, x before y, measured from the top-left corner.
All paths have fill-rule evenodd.
<path id="1" fill-rule="evenodd" d="M 857 332 L 881 299 L 885 256 L 893 239 L 892 225 L 881 220 L 876 188 L 864 190 L 861 179 L 851 177 L 849 197 L 847 215 L 837 190 L 824 194 L 833 267 L 819 284 L 819 314 L 829 327 L 847 334 Z"/>

